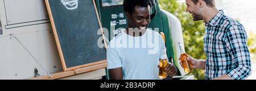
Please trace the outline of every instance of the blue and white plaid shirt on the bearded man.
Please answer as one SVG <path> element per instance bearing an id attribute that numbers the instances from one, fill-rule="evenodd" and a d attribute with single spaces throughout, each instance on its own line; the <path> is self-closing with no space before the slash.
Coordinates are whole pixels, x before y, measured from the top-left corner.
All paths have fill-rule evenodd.
<path id="1" fill-rule="evenodd" d="M 250 76 L 250 53 L 247 34 L 242 24 L 220 10 L 209 23 L 205 22 L 204 52 L 207 55 L 205 79 L 228 75 L 241 80 Z"/>

